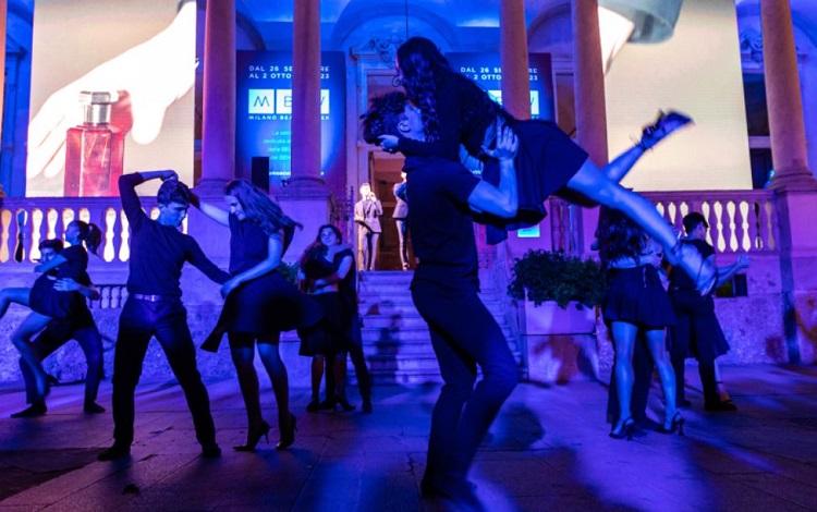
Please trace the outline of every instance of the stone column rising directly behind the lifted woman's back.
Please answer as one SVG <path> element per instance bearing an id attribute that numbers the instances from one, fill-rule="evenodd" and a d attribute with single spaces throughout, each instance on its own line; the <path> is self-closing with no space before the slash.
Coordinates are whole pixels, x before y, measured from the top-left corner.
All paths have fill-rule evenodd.
<path id="1" fill-rule="evenodd" d="M 531 78 L 524 0 L 502 0 L 499 13 L 502 106 L 515 118 L 531 118 Z"/>

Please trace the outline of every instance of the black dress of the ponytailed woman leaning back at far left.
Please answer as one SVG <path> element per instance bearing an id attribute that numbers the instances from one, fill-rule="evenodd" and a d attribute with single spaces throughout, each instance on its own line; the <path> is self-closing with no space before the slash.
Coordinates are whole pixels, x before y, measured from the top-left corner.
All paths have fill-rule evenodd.
<path id="1" fill-rule="evenodd" d="M 80 284 L 90 284 L 88 278 L 88 253 L 81 244 L 72 245 L 59 253 L 65 261 L 34 281 L 28 295 L 33 312 L 56 319 L 68 318 L 72 312 L 82 309 L 84 297 L 78 292 L 60 292 L 53 289 L 58 279 L 73 279 Z"/>

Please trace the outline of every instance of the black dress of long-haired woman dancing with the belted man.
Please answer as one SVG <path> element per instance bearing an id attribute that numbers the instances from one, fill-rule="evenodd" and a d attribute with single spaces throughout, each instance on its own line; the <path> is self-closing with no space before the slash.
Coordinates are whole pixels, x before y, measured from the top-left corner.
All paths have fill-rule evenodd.
<path id="1" fill-rule="evenodd" d="M 269 236 L 251 220 L 230 216 L 230 275 L 236 276 L 267 258 Z M 242 283 L 228 295 L 219 321 L 202 349 L 216 351 L 224 332 L 278 340 L 281 331 L 312 326 L 320 309 L 277 269 Z"/>

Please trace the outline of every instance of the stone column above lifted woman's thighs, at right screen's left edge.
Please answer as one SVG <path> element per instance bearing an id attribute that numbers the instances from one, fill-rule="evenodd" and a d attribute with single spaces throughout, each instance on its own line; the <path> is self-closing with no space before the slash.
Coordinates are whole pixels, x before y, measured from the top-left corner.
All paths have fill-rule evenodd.
<path id="1" fill-rule="evenodd" d="M 573 87 L 576 142 L 598 166 L 608 161 L 605 72 L 596 0 L 573 0 Z M 577 208 L 577 207 L 572 207 Z M 589 254 L 598 223 L 598 208 L 582 209 L 582 253 Z"/>

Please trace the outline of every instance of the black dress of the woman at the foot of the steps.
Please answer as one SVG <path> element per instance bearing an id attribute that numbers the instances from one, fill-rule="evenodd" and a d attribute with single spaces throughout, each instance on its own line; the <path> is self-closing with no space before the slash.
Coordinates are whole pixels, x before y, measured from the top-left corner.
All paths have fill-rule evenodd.
<path id="1" fill-rule="evenodd" d="M 308 281 L 324 279 L 336 273 L 343 258 L 354 255 L 345 248 L 334 254 L 332 260 L 314 253 L 304 263 L 302 269 Z M 339 291 L 316 293 L 310 295 L 320 304 L 324 319 L 316 329 L 301 334 L 301 355 L 333 355 L 349 351 L 352 344 L 359 344 L 359 321 L 357 318 L 357 292 L 355 290 L 354 265 L 346 276 L 338 283 Z"/>

